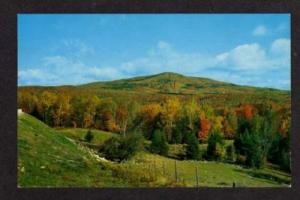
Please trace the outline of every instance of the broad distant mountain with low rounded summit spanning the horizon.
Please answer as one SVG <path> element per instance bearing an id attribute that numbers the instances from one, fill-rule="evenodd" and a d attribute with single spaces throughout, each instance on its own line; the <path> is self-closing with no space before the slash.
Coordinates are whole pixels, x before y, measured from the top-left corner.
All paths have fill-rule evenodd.
<path id="1" fill-rule="evenodd" d="M 187 98 L 193 96 L 199 99 L 217 99 L 219 104 L 234 102 L 253 102 L 271 100 L 289 102 L 290 91 L 272 88 L 241 86 L 208 78 L 190 77 L 177 73 L 165 72 L 150 76 L 139 76 L 114 81 L 100 81 L 77 86 L 26 86 L 24 90 L 53 90 L 56 92 L 72 92 L 73 94 L 94 94 L 101 97 L 127 98 L 134 96 L 141 101 L 159 101 L 161 98 L 177 96 Z"/>

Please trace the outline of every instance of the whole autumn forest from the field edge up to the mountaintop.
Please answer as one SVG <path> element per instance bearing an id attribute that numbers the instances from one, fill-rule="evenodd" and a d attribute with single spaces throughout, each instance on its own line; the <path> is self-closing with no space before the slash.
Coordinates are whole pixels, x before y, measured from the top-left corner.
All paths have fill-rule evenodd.
<path id="1" fill-rule="evenodd" d="M 119 134 L 121 139 L 99 147 L 106 158 L 118 162 L 130 158 L 142 137 L 151 141 L 150 152 L 163 156 L 170 145 L 182 144 L 182 160 L 227 161 L 258 169 L 273 163 L 291 170 L 287 91 L 167 73 L 80 86 L 19 87 L 18 108 L 51 127 Z"/>

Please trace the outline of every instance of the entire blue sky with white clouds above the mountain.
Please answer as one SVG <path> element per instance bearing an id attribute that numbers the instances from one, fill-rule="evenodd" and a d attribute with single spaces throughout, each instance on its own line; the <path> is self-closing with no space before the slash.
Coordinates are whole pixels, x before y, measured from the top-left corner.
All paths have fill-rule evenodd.
<path id="1" fill-rule="evenodd" d="M 18 85 L 161 72 L 290 90 L 289 14 L 19 14 Z"/>

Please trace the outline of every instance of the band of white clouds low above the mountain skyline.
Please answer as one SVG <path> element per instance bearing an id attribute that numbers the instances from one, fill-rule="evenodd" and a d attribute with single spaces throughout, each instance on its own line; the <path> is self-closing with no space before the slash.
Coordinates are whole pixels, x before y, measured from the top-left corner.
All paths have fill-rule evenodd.
<path id="1" fill-rule="evenodd" d="M 258 27 L 254 32 L 259 35 L 266 30 Z M 143 57 L 116 66 L 88 66 L 80 60 L 80 55 L 97 55 L 92 48 L 79 41 L 65 41 L 65 46 L 78 50 L 72 55 L 45 57 L 39 68 L 20 70 L 18 84 L 82 84 L 171 71 L 241 85 L 290 89 L 290 39 L 287 38 L 274 40 L 268 48 L 259 43 L 241 44 L 216 55 L 185 53 L 166 41 L 158 41 Z"/>

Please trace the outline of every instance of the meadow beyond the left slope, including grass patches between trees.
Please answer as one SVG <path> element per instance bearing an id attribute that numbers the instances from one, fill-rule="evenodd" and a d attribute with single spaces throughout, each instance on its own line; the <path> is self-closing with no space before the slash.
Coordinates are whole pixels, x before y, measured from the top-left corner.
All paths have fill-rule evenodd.
<path id="1" fill-rule="evenodd" d="M 80 139 L 87 132 L 86 129 L 65 129 L 62 133 Z M 110 133 L 93 130 L 95 139 L 93 143 L 101 144 L 106 140 Z M 78 136 L 76 136 L 78 135 Z M 100 136 L 102 135 L 102 137 Z M 112 135 L 112 134 L 110 134 Z M 149 142 L 146 142 L 146 145 Z M 226 141 L 231 144 L 232 141 Z M 204 150 L 206 145 L 201 144 L 200 148 Z M 170 156 L 182 152 L 182 145 L 170 145 Z M 175 160 L 146 152 L 140 152 L 132 160 L 107 166 L 122 178 L 132 179 L 132 184 L 139 187 L 144 186 L 172 186 L 175 182 L 174 165 Z M 179 185 L 194 187 L 196 166 L 199 170 L 200 186 L 209 187 L 230 187 L 234 181 L 238 187 L 280 187 L 290 184 L 290 175 L 268 165 L 265 169 L 253 170 L 243 168 L 238 165 L 208 162 L 208 161 L 176 161 L 179 173 Z M 121 168 L 121 170 L 120 170 Z M 116 171 L 117 170 L 117 171 Z M 147 178 L 152 183 L 145 185 L 143 181 L 137 181 L 138 177 Z M 153 179 L 153 180 L 152 180 Z M 155 179 L 155 180 L 154 180 Z M 173 182 L 172 182 L 173 181 Z M 177 184 L 178 185 L 178 184 Z"/>

